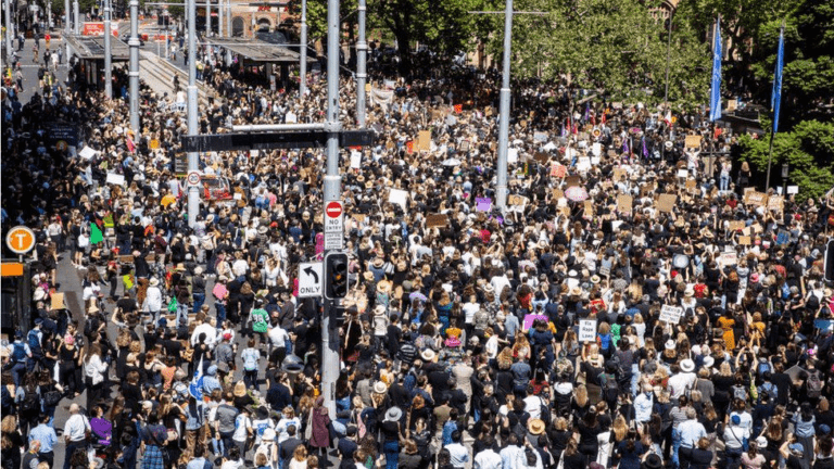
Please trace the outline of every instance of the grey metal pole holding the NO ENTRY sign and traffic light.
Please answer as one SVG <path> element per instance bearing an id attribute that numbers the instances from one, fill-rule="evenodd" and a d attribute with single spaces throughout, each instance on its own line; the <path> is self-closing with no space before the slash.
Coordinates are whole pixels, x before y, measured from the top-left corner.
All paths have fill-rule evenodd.
<path id="1" fill-rule="evenodd" d="M 339 0 L 327 1 L 327 174 L 325 205 L 341 198 L 339 175 Z M 339 379 L 339 331 L 331 324 L 334 304 L 325 300 L 321 319 L 321 394 L 330 418 L 336 417 L 336 381 Z"/>

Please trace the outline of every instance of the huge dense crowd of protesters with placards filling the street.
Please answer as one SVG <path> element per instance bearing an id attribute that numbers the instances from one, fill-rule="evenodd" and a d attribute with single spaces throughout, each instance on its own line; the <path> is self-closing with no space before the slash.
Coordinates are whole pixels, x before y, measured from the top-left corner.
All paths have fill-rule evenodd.
<path id="1" fill-rule="evenodd" d="M 207 63 L 201 132 L 324 118 L 320 83 Z M 670 127 L 521 81 L 500 211 L 496 74 L 431 75 L 372 75 L 376 143 L 342 152 L 332 415 L 321 305 L 298 294 L 324 252 L 323 151 L 201 154 L 216 185 L 188 220 L 186 115 L 161 93 L 135 135 L 81 83 L 5 92 L 3 230 L 37 246 L 34 322 L 2 350 L 3 468 L 834 467 L 831 194 L 747 191 L 736 136 L 702 114 Z M 79 123 L 75 149 L 53 121 Z M 75 275 L 78 304 L 55 305 Z"/>

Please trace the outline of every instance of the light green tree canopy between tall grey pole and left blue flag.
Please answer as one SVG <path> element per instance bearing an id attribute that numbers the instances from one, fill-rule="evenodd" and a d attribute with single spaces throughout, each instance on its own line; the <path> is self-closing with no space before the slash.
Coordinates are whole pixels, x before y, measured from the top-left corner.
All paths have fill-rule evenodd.
<path id="1" fill-rule="evenodd" d="M 520 0 L 515 10 L 547 14 L 514 17 L 513 75 L 566 78 L 615 100 L 660 102 L 668 33 L 650 7 L 639 0 Z M 686 21 L 688 14 L 684 5 L 675 14 L 669 60 L 669 97 L 682 104 L 703 103 L 709 87 L 708 48 Z M 503 26 L 493 29 L 503 31 Z M 495 54 L 502 34 L 492 36 Z"/>

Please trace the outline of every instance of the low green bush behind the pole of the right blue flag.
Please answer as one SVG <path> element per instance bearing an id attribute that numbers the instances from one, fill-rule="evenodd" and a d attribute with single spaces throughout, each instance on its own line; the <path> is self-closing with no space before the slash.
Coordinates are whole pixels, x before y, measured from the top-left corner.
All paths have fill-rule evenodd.
<path id="1" fill-rule="evenodd" d="M 754 140 L 744 136 L 740 140 L 742 160 L 759 172 L 768 169 L 770 136 Z M 819 198 L 834 186 L 834 124 L 803 121 L 793 131 L 778 132 L 773 139 L 772 167 L 787 163 L 788 180 L 799 186 L 797 199 Z M 779 169 L 771 169 L 771 176 Z"/>

